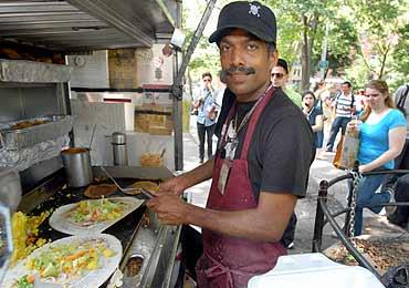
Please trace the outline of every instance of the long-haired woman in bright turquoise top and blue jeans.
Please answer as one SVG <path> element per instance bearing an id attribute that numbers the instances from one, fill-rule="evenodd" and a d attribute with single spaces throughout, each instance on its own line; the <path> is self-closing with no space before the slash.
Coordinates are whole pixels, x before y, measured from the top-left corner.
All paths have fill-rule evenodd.
<path id="1" fill-rule="evenodd" d="M 366 85 L 365 109 L 360 114 L 359 125 L 360 145 L 358 151 L 359 172 L 374 169 L 392 169 L 394 160 L 403 148 L 406 138 L 406 119 L 396 109 L 389 94 L 388 84 L 381 80 L 373 80 Z M 357 125 L 349 122 L 348 126 Z M 368 207 L 379 213 L 382 206 L 391 198 L 389 191 L 376 193 L 386 175 L 364 177 L 357 191 L 357 206 L 355 212 L 355 235 L 363 233 L 363 209 Z"/>

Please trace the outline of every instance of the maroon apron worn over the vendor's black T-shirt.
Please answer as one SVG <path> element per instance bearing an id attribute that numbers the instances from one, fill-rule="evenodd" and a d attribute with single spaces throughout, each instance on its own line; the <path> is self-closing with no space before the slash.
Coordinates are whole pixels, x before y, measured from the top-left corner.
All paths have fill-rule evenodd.
<path id="1" fill-rule="evenodd" d="M 243 210 L 258 206 L 249 178 L 248 153 L 259 117 L 271 100 L 273 92 L 274 89 L 266 92 L 248 122 L 241 155 L 240 158 L 232 161 L 223 195 L 218 188 L 223 160 L 220 158 L 220 153 L 217 154 L 207 208 Z M 234 112 L 235 105 L 230 110 L 226 126 L 229 126 Z M 224 137 L 221 141 L 224 142 Z M 277 258 L 286 254 L 280 243 L 249 240 L 209 229 L 202 229 L 202 234 L 203 255 L 196 265 L 197 280 L 200 288 L 247 287 L 251 277 L 271 270 Z"/>

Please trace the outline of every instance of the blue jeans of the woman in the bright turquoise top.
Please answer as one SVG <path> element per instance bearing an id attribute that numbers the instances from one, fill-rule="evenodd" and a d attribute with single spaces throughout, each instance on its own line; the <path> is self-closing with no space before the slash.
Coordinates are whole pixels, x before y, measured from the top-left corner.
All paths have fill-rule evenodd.
<path id="1" fill-rule="evenodd" d="M 357 202 L 355 209 L 355 236 L 363 234 L 364 207 L 388 203 L 389 192 L 375 193 L 382 184 L 387 175 L 375 175 L 364 177 L 357 189 Z M 384 206 L 368 207 L 374 213 L 379 213 Z"/>

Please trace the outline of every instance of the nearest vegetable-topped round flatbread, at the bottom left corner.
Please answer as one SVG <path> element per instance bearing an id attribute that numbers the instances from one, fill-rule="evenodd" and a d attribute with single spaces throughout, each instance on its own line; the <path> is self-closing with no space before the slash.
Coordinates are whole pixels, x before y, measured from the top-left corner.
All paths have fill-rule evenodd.
<path id="1" fill-rule="evenodd" d="M 99 287 L 118 267 L 120 241 L 112 235 L 71 236 L 49 243 L 6 274 L 1 287 Z"/>

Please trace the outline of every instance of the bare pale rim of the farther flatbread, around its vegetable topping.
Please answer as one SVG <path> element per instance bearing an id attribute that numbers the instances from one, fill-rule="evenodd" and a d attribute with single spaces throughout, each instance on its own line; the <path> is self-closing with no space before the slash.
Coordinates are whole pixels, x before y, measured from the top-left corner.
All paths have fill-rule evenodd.
<path id="1" fill-rule="evenodd" d="M 126 204 L 126 208 L 123 210 L 123 214 L 119 218 L 114 220 L 105 220 L 95 223 L 88 226 L 81 226 L 72 220 L 69 219 L 70 212 L 74 209 L 77 205 L 77 203 L 69 204 L 61 206 L 50 217 L 50 226 L 54 228 L 55 230 L 69 234 L 69 235 L 94 235 L 97 233 L 102 233 L 109 226 L 114 225 L 118 220 L 126 217 L 129 213 L 138 208 L 144 200 L 137 199 L 134 197 L 112 197 L 107 198 L 109 200 L 118 200 Z M 99 199 L 92 199 L 91 202 L 99 200 Z"/>

